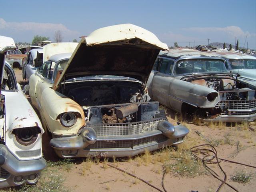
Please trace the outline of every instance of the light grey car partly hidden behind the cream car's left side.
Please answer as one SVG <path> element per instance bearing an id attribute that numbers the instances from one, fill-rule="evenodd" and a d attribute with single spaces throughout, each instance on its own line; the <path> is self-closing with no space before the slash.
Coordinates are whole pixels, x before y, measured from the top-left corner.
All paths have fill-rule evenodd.
<path id="1" fill-rule="evenodd" d="M 22 68 L 23 79 L 29 81 L 29 78 L 43 64 L 43 49 L 32 49 L 28 52 L 26 61 Z"/>

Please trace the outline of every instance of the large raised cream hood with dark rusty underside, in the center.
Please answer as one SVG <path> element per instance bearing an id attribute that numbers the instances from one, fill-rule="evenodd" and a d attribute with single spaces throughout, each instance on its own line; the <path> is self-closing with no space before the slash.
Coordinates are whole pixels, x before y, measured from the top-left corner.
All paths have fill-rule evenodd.
<path id="1" fill-rule="evenodd" d="M 132 77 L 146 83 L 160 50 L 168 50 L 168 46 L 139 26 L 100 28 L 82 37 L 56 85 L 92 75 Z"/>

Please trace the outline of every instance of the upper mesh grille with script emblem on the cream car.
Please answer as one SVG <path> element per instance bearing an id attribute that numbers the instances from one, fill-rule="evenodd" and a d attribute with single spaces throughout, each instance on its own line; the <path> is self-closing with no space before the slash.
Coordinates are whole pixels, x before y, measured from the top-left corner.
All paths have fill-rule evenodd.
<path id="1" fill-rule="evenodd" d="M 135 123 L 86 124 L 85 127 L 92 128 L 96 132 L 97 136 L 134 135 L 158 130 L 158 124 L 161 121 L 161 118 L 157 118 L 150 121 Z M 78 134 L 80 134 L 81 130 L 82 128 L 78 131 Z"/>

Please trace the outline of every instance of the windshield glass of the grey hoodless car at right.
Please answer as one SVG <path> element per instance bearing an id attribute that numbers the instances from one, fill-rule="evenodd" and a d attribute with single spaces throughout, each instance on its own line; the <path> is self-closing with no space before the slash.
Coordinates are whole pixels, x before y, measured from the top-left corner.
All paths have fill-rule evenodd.
<path id="1" fill-rule="evenodd" d="M 224 61 L 217 59 L 186 59 L 176 63 L 174 74 L 227 72 Z"/>

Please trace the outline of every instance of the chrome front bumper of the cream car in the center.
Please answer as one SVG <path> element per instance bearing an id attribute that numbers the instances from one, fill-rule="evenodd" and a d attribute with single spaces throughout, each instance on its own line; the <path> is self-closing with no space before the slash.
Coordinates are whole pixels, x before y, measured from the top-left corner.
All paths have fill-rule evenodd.
<path id="1" fill-rule="evenodd" d="M 128 135 L 116 137 L 116 136 L 97 136 L 96 132 L 92 128 L 84 127 L 78 136 L 70 137 L 58 137 L 53 138 L 50 141 L 50 145 L 54 148 L 56 154 L 62 158 L 67 157 L 78 157 L 82 154 L 82 151 L 86 151 L 88 156 L 104 156 L 104 157 L 120 157 L 120 156 L 134 156 L 136 154 L 142 153 L 145 150 L 152 151 L 159 148 L 159 146 L 170 146 L 176 145 L 183 142 L 183 138 L 189 133 L 186 126 L 181 124 L 174 126 L 167 120 L 162 120 L 158 124 L 158 130 L 153 132 L 146 132 L 144 134 Z M 102 148 L 102 149 L 86 149 L 91 144 L 94 144 L 96 141 L 105 141 L 105 142 L 117 142 L 118 140 L 133 140 L 137 142 L 143 138 L 150 136 L 163 135 L 168 138 L 164 142 L 159 143 L 148 143 L 143 147 L 134 147 L 134 148 Z"/>

